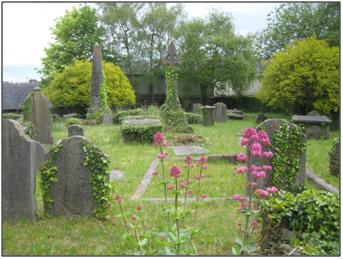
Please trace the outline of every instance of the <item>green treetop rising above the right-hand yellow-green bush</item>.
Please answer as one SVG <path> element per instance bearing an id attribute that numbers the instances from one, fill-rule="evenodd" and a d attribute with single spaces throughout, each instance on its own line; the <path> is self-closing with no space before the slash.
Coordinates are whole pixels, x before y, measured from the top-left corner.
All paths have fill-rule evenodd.
<path id="1" fill-rule="evenodd" d="M 255 44 L 262 60 L 298 39 L 316 37 L 339 46 L 340 3 L 287 3 L 268 14 L 268 26 Z"/>

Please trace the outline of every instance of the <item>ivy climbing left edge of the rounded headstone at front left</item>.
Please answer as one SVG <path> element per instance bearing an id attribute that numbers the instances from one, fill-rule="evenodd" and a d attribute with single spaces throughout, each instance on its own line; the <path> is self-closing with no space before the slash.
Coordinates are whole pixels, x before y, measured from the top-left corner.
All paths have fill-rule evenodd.
<path id="1" fill-rule="evenodd" d="M 51 196 L 51 184 L 57 182 L 56 172 L 58 170 L 55 161 L 57 154 L 60 151 L 62 145 L 58 144 L 52 147 L 49 152 L 49 158 L 45 160 L 39 167 L 40 174 L 40 187 L 42 190 L 44 211 L 48 212 L 53 206 L 53 197 Z"/>

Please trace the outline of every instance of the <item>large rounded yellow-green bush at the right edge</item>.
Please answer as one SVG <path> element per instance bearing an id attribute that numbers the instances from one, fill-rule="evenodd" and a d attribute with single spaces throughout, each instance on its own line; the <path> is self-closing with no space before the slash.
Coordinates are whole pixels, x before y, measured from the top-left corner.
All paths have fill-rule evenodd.
<path id="1" fill-rule="evenodd" d="M 266 65 L 257 97 L 288 112 L 338 111 L 339 49 L 308 38 L 276 53 Z"/>

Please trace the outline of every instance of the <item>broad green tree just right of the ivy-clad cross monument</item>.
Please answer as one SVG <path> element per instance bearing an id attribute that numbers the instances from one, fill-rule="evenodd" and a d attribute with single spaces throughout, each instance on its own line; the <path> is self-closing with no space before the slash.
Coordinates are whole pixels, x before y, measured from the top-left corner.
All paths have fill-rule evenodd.
<path id="1" fill-rule="evenodd" d="M 252 38 L 235 34 L 228 13 L 213 11 L 207 21 L 185 22 L 179 33 L 181 77 L 199 83 L 203 103 L 207 102 L 208 88 L 213 88 L 217 81 L 230 81 L 240 95 L 255 78 Z"/>

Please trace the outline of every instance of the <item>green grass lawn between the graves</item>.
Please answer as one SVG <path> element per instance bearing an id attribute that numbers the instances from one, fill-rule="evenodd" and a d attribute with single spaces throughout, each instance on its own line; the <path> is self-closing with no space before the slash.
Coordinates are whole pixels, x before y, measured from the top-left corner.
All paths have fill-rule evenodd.
<path id="1" fill-rule="evenodd" d="M 269 118 L 277 114 L 267 114 Z M 229 120 L 216 123 L 214 127 L 193 125 L 195 134 L 205 138 L 202 145 L 212 154 L 235 154 L 244 152 L 239 146 L 239 135 L 247 127 L 254 127 L 256 114 L 249 113 L 242 120 Z M 110 169 L 124 172 L 125 177 L 112 182 L 113 196 L 122 195 L 123 207 L 128 218 L 134 213 L 137 205 L 143 206 L 146 227 L 154 231 L 162 231 L 169 222 L 162 212 L 161 203 L 147 201 L 131 201 L 130 196 L 146 173 L 150 163 L 156 158 L 158 150 L 152 145 L 125 144 L 121 140 L 120 127 L 84 126 L 85 136 L 98 145 L 110 158 Z M 53 135 L 55 143 L 67 136 L 63 123 L 54 123 Z M 333 132 L 333 137 L 338 132 Z M 307 163 L 324 179 L 329 175 L 327 152 L 331 147 L 329 140 L 309 141 L 307 144 Z M 169 160 L 166 163 L 167 173 L 173 164 L 183 165 L 183 161 L 175 161 L 173 151 L 168 149 Z M 325 158 L 325 159 L 324 159 Z M 234 174 L 234 165 L 224 162 L 210 162 L 205 171 L 206 178 L 201 183 L 201 193 L 209 197 L 232 197 L 234 193 L 244 192 L 244 176 Z M 185 172 L 185 168 L 182 168 Z M 144 198 L 163 197 L 160 182 L 161 170 L 153 178 Z M 183 173 L 184 173 L 183 172 Z M 192 169 L 194 175 L 198 168 Z M 193 189 L 195 186 L 193 186 Z M 112 214 L 109 220 L 99 221 L 90 218 L 46 218 L 42 213 L 40 188 L 37 186 L 39 220 L 35 224 L 19 222 L 3 224 L 3 255 L 127 255 L 132 254 L 136 243 L 124 238 L 125 227 L 120 217 L 117 204 L 112 203 Z M 168 206 L 172 206 L 170 203 Z M 199 228 L 194 237 L 199 255 L 231 255 L 231 246 L 239 235 L 237 223 L 241 220 L 238 212 L 239 204 L 232 200 L 204 202 L 198 210 L 198 219 L 194 222 L 189 216 L 182 226 Z"/>

